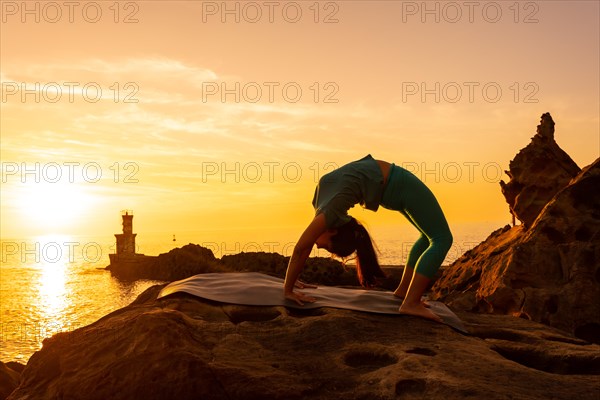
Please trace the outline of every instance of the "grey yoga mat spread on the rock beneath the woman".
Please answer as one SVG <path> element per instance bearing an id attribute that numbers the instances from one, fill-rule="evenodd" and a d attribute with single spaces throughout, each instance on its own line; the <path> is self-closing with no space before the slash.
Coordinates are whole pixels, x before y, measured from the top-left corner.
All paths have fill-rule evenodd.
<path id="1" fill-rule="evenodd" d="M 285 306 L 311 309 L 319 307 L 343 308 L 377 314 L 401 316 L 398 308 L 402 300 L 392 292 L 364 289 L 346 289 L 319 286 L 316 289 L 296 289 L 317 299 L 304 306 L 283 296 L 283 279 L 258 272 L 229 272 L 194 275 L 171 282 L 157 298 L 177 292 L 185 292 L 221 303 L 249 306 Z M 462 321 L 444 303 L 429 301 L 430 310 L 440 316 L 444 323 L 459 332 L 468 333 Z"/>

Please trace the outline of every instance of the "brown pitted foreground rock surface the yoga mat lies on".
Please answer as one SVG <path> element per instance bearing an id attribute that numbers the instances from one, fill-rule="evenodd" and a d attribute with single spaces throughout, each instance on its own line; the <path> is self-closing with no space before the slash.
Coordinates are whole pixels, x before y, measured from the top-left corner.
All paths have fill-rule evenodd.
<path id="1" fill-rule="evenodd" d="M 409 316 L 221 305 L 185 294 L 44 341 L 10 400 L 598 399 L 600 346 L 510 316 L 474 336 Z"/>

